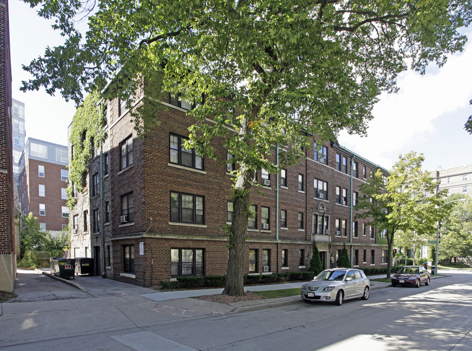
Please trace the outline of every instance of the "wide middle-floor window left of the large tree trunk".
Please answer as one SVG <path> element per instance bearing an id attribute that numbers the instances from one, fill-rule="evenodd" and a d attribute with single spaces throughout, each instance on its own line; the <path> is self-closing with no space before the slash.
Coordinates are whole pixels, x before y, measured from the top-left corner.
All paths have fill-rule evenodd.
<path id="1" fill-rule="evenodd" d="M 203 196 L 171 192 L 171 221 L 203 224 Z"/>

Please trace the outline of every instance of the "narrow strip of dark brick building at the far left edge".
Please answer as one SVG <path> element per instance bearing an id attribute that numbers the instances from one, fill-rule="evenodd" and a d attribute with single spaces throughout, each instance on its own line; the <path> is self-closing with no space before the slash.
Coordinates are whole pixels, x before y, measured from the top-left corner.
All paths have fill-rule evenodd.
<path id="1" fill-rule="evenodd" d="M 13 208 L 12 78 L 8 0 L 0 0 L 0 291 L 13 292 L 16 254 Z"/>

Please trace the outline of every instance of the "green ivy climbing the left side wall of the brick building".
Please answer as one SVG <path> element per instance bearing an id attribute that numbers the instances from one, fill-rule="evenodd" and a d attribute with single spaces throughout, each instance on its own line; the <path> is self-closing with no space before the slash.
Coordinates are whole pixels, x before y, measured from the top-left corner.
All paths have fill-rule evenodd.
<path id="1" fill-rule="evenodd" d="M 104 111 L 105 104 L 102 103 L 100 94 L 94 92 L 84 99 L 72 118 L 69 136 L 72 155 L 69 160 L 69 187 L 67 188 L 67 205 L 70 210 L 77 201 L 72 192 L 72 184 L 78 192 L 86 190 L 83 179 L 87 173 L 89 160 L 94 149 L 100 145 L 100 141 L 106 138 Z"/>

